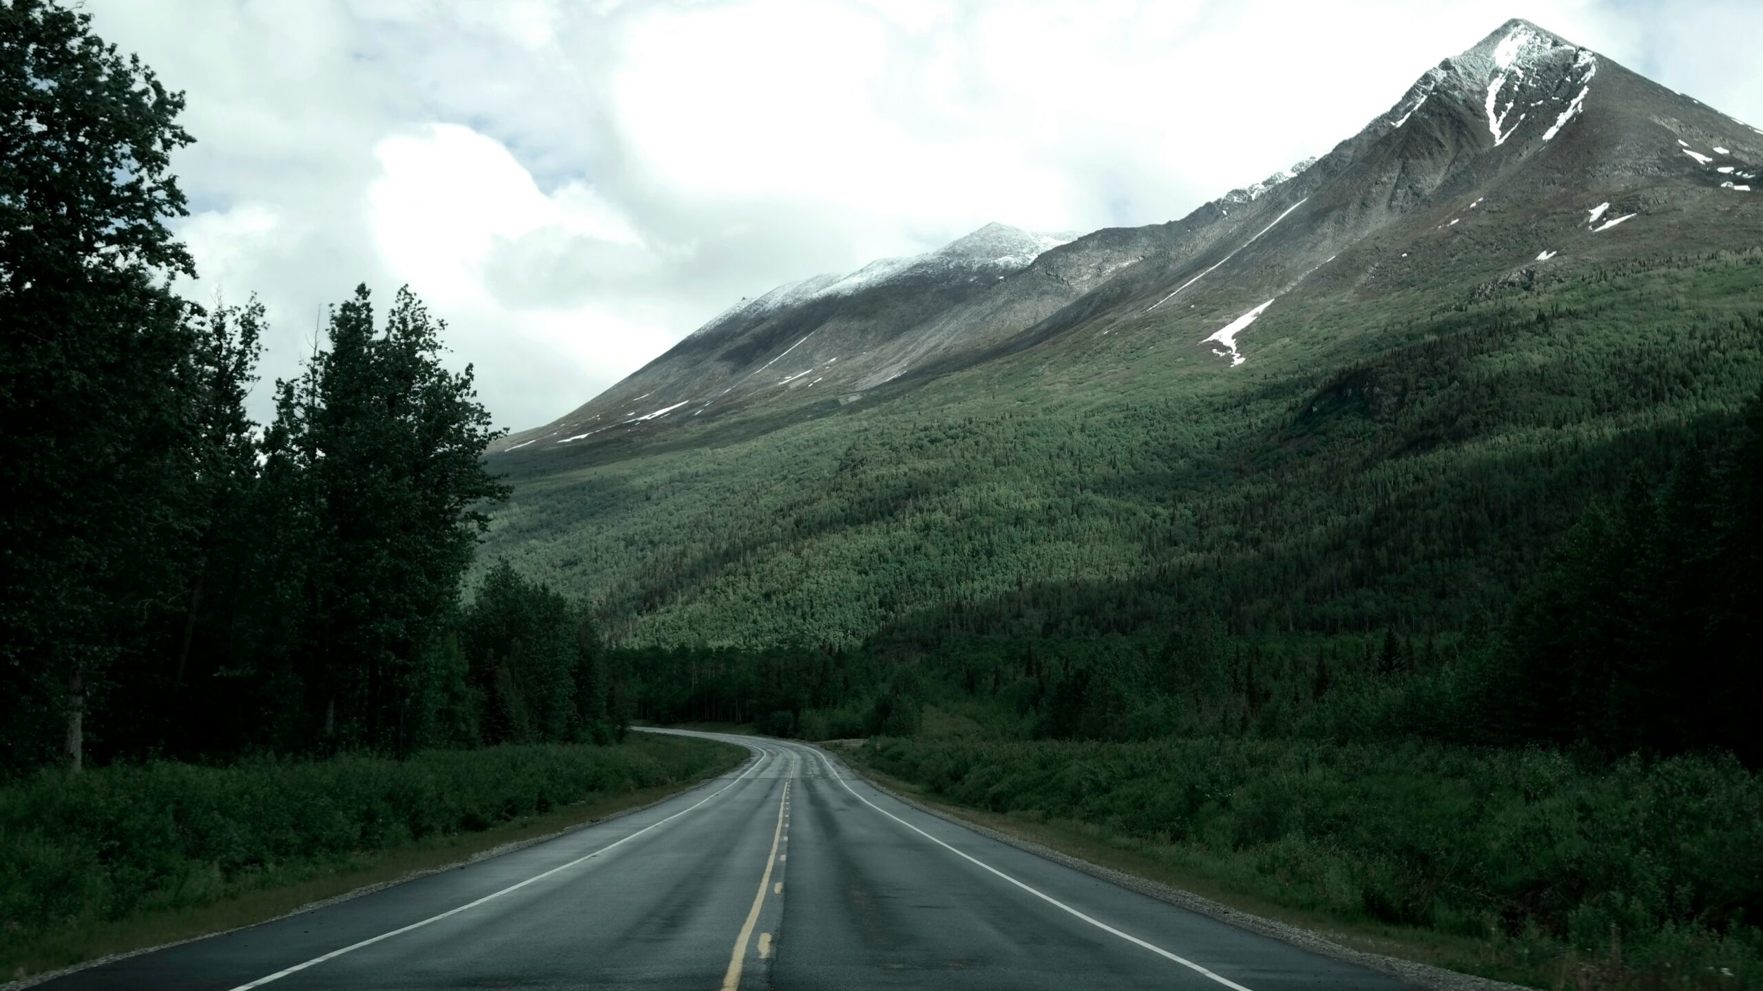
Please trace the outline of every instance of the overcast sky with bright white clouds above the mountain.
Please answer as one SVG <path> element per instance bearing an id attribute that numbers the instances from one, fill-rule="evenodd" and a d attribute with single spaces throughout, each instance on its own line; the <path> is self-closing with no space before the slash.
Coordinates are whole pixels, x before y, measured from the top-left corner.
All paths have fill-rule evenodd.
<path id="1" fill-rule="evenodd" d="M 1328 152 L 1513 16 L 1763 123 L 1756 0 L 86 9 L 187 92 L 189 293 L 268 303 L 266 381 L 354 284 L 407 282 L 513 428 L 781 282 L 989 220 L 1181 217 Z"/>

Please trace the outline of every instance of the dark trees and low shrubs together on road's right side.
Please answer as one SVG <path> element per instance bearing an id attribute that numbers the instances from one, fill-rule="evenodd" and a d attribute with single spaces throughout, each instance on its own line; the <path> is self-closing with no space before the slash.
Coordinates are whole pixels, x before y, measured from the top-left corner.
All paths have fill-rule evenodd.
<path id="1" fill-rule="evenodd" d="M 1109 630 L 1120 585 L 1038 628 L 954 610 L 852 649 L 608 663 L 647 718 L 871 737 L 853 760 L 931 799 L 1361 949 L 1537 987 L 1751 987 L 1763 399 L 1724 421 L 1631 462 L 1462 628 Z"/>

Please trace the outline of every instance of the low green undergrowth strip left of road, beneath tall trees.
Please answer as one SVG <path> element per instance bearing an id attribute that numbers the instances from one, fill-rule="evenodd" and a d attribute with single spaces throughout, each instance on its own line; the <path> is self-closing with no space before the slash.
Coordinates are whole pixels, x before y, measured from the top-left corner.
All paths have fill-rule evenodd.
<path id="1" fill-rule="evenodd" d="M 0 788 L 0 961 L 51 929 L 203 905 L 425 836 L 688 781 L 740 755 L 645 735 L 617 748 L 153 762 L 74 779 L 42 772 Z"/>

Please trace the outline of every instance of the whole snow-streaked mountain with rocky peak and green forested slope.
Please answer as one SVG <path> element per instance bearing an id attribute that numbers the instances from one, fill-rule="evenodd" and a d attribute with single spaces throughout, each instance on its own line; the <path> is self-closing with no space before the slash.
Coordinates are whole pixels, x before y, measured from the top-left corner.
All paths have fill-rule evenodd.
<path id="1" fill-rule="evenodd" d="M 1179 220 L 737 303 L 508 437 L 490 545 L 651 642 L 1467 622 L 1763 381 L 1759 169 L 1763 132 L 1507 21 Z"/>

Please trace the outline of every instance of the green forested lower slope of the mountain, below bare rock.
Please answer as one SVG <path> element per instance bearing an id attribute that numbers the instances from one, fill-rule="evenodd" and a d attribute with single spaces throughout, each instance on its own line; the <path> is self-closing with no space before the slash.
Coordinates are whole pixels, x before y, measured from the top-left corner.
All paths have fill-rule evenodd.
<path id="1" fill-rule="evenodd" d="M 480 563 L 591 598 L 622 645 L 933 647 L 1194 612 L 1446 635 L 1763 383 L 1759 250 L 1312 302 L 1257 323 L 1239 367 L 1178 317 L 517 462 Z"/>

